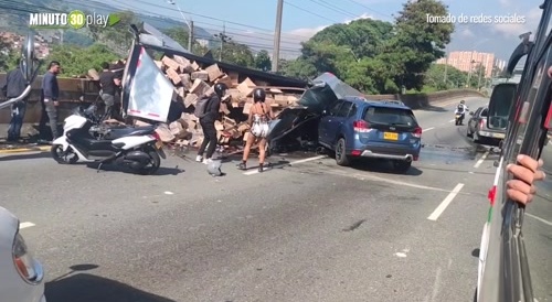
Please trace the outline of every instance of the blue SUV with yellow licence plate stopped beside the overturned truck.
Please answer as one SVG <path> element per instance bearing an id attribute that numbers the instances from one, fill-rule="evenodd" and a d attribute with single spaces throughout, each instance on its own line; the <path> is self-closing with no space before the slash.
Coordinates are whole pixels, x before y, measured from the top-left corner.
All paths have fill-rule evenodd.
<path id="1" fill-rule="evenodd" d="M 406 172 L 417 161 L 422 128 L 412 109 L 400 101 L 338 99 L 322 114 L 318 142 L 336 154 L 339 165 L 361 158 L 386 159 Z"/>

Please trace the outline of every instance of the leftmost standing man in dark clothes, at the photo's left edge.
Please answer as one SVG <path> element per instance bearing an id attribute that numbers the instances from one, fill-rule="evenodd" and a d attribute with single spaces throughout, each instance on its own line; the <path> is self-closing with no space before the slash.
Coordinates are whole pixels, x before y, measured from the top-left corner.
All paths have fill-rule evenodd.
<path id="1" fill-rule="evenodd" d="M 26 79 L 20 68 L 20 60 L 18 58 L 18 67 L 8 73 L 6 76 L 6 85 L 2 87 L 3 94 L 8 99 L 17 98 L 26 88 Z M 11 105 L 11 121 L 8 128 L 8 141 L 19 141 L 21 138 L 21 127 L 23 126 L 23 118 L 25 116 L 26 100 L 24 98 Z"/>

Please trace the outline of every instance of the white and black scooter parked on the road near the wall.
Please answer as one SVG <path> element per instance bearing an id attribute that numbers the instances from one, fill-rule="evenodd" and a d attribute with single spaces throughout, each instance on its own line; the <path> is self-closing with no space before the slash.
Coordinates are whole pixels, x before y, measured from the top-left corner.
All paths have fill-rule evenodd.
<path id="1" fill-rule="evenodd" d="M 63 136 L 52 142 L 52 158 L 62 164 L 81 162 L 116 163 L 129 166 L 135 173 L 157 172 L 166 159 L 162 142 L 153 127 L 135 128 L 114 139 L 97 139 L 91 134 L 94 122 L 74 111 L 63 125 Z"/>

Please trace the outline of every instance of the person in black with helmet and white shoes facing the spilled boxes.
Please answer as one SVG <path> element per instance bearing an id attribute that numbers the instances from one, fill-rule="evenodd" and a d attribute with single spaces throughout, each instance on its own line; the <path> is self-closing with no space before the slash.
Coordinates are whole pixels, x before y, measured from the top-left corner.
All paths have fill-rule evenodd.
<path id="1" fill-rule="evenodd" d="M 205 116 L 200 118 L 201 129 L 203 129 L 203 142 L 201 143 L 200 150 L 198 151 L 198 157 L 195 161 L 203 162 L 204 164 L 209 164 L 211 162 L 211 158 L 216 149 L 216 128 L 214 127 L 214 122 L 219 119 L 219 111 L 221 110 L 221 100 L 226 95 L 229 87 L 225 84 L 217 83 L 214 85 L 214 95 L 211 96 L 209 103 L 205 108 Z M 208 148 L 209 145 L 209 148 Z M 203 159 L 203 152 L 206 154 L 205 159 Z"/>

